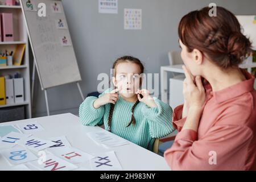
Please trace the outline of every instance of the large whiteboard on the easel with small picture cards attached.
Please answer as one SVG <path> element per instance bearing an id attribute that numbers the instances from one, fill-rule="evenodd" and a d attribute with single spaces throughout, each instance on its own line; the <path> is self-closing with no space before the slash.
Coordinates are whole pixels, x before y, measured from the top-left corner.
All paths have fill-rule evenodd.
<path id="1" fill-rule="evenodd" d="M 62 2 L 20 2 L 42 89 L 81 81 Z M 45 3 L 46 17 L 38 16 L 39 3 Z"/>

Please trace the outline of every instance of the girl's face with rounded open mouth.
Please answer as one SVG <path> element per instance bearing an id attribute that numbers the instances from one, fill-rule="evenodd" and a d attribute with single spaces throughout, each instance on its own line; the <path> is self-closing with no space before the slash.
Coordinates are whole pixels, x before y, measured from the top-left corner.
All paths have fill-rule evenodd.
<path id="1" fill-rule="evenodd" d="M 130 62 L 119 63 L 115 67 L 113 84 L 115 87 L 121 88 L 119 93 L 122 96 L 126 98 L 133 97 L 141 85 L 140 74 L 141 68 L 139 65 Z"/>

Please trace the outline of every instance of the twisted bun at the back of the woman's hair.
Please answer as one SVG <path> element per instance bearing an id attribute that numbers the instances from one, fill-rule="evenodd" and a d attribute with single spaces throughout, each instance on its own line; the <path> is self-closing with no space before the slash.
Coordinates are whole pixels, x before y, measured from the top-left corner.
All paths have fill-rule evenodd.
<path id="1" fill-rule="evenodd" d="M 228 39 L 227 49 L 227 54 L 230 57 L 230 65 L 238 65 L 251 52 L 251 42 L 241 32 L 232 32 Z"/>

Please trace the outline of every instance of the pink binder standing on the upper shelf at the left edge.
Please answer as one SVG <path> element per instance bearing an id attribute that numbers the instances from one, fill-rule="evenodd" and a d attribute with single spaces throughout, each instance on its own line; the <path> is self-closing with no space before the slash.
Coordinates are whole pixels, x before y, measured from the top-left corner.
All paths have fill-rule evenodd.
<path id="1" fill-rule="evenodd" d="M 13 42 L 13 14 L 12 13 L 2 13 L 1 14 L 2 23 L 2 41 L 3 42 Z"/>

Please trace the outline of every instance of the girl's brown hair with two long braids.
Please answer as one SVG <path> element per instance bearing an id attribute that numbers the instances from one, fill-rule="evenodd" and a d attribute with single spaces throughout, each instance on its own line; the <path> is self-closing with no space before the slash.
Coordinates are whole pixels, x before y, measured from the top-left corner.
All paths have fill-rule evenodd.
<path id="1" fill-rule="evenodd" d="M 117 67 L 117 65 L 119 63 L 125 63 L 125 62 L 134 63 L 134 64 L 139 65 L 139 68 L 141 68 L 141 73 L 144 73 L 143 64 L 141 63 L 141 61 L 138 58 L 132 57 L 132 56 L 123 56 L 123 57 L 119 57 L 114 62 L 113 67 L 112 67 L 112 69 L 114 69 L 114 75 L 113 76 L 115 76 L 115 68 Z M 133 107 L 131 108 L 131 121 L 129 122 L 127 127 L 130 126 L 131 123 L 133 123 L 133 125 L 135 125 L 134 109 L 137 106 L 137 104 L 139 104 L 139 100 L 137 100 L 135 102 L 135 104 L 133 105 Z M 110 109 L 109 109 L 108 131 L 110 131 L 110 132 L 111 132 L 111 122 L 112 122 L 112 115 L 113 115 L 113 111 L 114 111 L 114 106 L 115 106 L 114 104 L 110 104 Z"/>

